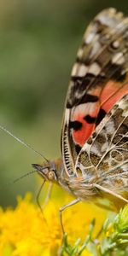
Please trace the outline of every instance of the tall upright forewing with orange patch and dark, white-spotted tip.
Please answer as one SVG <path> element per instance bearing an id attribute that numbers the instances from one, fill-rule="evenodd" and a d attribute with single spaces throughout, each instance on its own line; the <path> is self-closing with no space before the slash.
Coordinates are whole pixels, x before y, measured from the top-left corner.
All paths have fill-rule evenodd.
<path id="1" fill-rule="evenodd" d="M 128 18 L 102 11 L 88 26 L 73 66 L 61 132 L 70 176 L 81 148 L 103 117 L 128 92 Z"/>

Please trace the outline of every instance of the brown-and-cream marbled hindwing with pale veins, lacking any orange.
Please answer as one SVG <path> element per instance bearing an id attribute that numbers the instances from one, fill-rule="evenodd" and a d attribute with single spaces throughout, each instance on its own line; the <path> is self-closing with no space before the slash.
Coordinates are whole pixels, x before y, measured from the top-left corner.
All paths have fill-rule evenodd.
<path id="1" fill-rule="evenodd" d="M 84 144 L 76 162 L 84 183 L 128 193 L 128 95 L 117 102 Z"/>

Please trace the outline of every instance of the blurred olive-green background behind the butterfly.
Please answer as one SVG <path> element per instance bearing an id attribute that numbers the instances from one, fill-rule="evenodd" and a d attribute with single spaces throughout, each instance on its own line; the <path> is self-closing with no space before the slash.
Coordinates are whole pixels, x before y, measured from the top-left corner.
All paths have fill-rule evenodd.
<path id="1" fill-rule="evenodd" d="M 90 20 L 128 1 L 0 0 L 0 124 L 47 158 L 60 156 L 61 117 L 76 52 Z M 0 131 L 0 204 L 38 190 L 41 158 Z"/>

